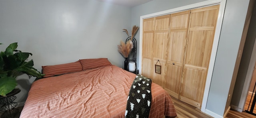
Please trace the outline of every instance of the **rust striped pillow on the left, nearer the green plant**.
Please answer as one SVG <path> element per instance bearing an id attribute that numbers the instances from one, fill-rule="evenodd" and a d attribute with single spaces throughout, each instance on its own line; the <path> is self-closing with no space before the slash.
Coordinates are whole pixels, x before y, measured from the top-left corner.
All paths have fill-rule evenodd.
<path id="1" fill-rule="evenodd" d="M 55 75 L 62 75 L 79 71 L 82 71 L 82 65 L 79 61 L 59 65 L 42 66 L 42 73 L 45 74 L 44 77 L 52 77 Z"/>

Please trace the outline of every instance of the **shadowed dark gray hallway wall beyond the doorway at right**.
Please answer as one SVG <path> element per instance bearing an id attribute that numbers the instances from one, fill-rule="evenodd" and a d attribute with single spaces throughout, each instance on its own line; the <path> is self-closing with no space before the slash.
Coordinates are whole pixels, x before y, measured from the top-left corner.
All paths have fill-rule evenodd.
<path id="1" fill-rule="evenodd" d="M 255 2 L 255 4 L 256 4 L 256 2 Z M 253 49 L 255 38 L 256 38 L 256 22 L 255 21 L 256 21 L 256 7 L 254 6 L 254 11 L 252 13 L 250 26 L 248 28 L 248 33 L 247 33 L 247 37 L 246 37 L 246 41 L 245 41 L 244 51 L 242 54 L 242 59 L 241 59 L 240 67 L 238 70 L 236 84 L 234 87 L 233 97 L 231 100 L 231 104 L 234 106 L 239 105 L 240 96 L 242 95 L 242 88 L 244 87 L 246 74 L 247 74 L 249 62 L 250 62 L 251 55 L 252 55 L 252 49 Z M 255 78 L 254 78 L 254 80 L 252 80 L 252 83 L 251 83 L 252 88 L 250 87 L 251 90 L 249 90 L 249 91 L 251 91 L 251 92 L 253 91 L 254 84 L 255 84 Z"/>

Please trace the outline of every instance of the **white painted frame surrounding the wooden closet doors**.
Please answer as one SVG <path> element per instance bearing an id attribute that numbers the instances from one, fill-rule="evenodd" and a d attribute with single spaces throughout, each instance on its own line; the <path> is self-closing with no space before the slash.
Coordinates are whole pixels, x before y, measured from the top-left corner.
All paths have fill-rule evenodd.
<path id="1" fill-rule="evenodd" d="M 219 9 L 218 20 L 217 20 L 217 24 L 216 24 L 216 30 L 215 30 L 215 34 L 214 34 L 214 41 L 213 41 L 213 45 L 212 45 L 212 53 L 211 53 L 209 67 L 208 67 L 206 85 L 205 85 L 205 88 L 204 88 L 204 97 L 203 97 L 202 107 L 201 107 L 202 112 L 205 112 L 205 110 L 206 110 L 206 103 L 207 103 L 208 94 L 209 94 L 209 90 L 210 90 L 210 84 L 211 84 L 211 80 L 212 80 L 212 73 L 213 73 L 217 48 L 218 48 L 218 42 L 219 42 L 219 39 L 220 39 L 220 30 L 221 30 L 221 27 L 222 27 L 224 10 L 225 10 L 225 7 L 226 7 L 226 0 L 207 0 L 207 1 L 204 1 L 204 2 L 196 3 L 196 4 L 191 4 L 191 5 L 187 5 L 187 6 L 173 8 L 173 9 L 170 9 L 170 10 L 165 10 L 165 11 L 162 11 L 162 12 L 156 12 L 156 13 L 153 13 L 153 14 L 140 16 L 140 49 L 139 49 L 139 52 L 140 52 L 139 53 L 139 63 L 140 64 L 139 64 L 139 67 L 138 67 L 139 70 L 141 70 L 141 67 L 142 67 L 143 19 L 152 18 L 152 17 L 156 17 L 156 16 L 162 16 L 162 15 L 171 14 L 171 13 L 175 13 L 175 12 L 181 12 L 181 11 L 184 11 L 184 10 L 199 8 L 199 7 L 203 7 L 203 6 L 213 6 L 213 5 L 216 5 L 216 4 L 220 4 L 220 9 Z M 141 74 L 141 71 L 140 71 L 140 74 Z"/>

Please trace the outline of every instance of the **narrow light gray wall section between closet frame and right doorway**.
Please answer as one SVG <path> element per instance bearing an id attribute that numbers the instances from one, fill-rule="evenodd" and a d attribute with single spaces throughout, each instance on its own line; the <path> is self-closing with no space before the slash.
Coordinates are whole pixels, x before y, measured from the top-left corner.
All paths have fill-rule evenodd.
<path id="1" fill-rule="evenodd" d="M 227 0 L 206 109 L 224 115 L 250 0 Z"/>

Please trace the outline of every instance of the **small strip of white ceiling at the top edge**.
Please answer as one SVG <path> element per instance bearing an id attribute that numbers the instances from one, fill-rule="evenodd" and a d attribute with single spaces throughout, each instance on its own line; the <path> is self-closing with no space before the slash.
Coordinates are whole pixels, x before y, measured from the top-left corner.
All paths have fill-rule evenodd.
<path id="1" fill-rule="evenodd" d="M 122 6 L 134 7 L 152 0 L 97 0 L 101 2 L 108 2 L 111 4 L 117 4 Z"/>

